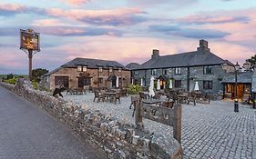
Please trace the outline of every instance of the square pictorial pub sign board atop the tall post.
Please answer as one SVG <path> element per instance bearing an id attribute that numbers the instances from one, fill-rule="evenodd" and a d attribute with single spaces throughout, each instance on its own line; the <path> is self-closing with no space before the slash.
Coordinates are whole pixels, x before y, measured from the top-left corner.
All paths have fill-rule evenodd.
<path id="1" fill-rule="evenodd" d="M 39 33 L 35 33 L 32 29 L 20 29 L 20 49 L 40 51 Z"/>

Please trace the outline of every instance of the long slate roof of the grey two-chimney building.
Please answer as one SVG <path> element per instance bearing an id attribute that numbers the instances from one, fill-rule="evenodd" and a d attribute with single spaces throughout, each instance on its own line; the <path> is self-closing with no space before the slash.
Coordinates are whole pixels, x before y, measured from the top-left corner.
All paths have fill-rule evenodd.
<path id="1" fill-rule="evenodd" d="M 199 50 L 176 55 L 163 55 L 154 59 L 151 58 L 137 69 L 182 67 L 188 65 L 222 65 L 224 63 L 227 62 L 219 56 L 210 53 L 210 51 Z"/>

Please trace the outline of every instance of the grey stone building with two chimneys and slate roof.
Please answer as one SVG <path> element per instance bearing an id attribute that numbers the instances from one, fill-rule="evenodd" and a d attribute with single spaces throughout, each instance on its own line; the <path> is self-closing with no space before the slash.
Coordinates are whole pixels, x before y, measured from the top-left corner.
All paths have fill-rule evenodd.
<path id="1" fill-rule="evenodd" d="M 228 67 L 224 68 L 223 64 Z M 200 91 L 208 94 L 222 94 L 223 84 L 220 81 L 228 72 L 234 71 L 233 64 L 210 52 L 205 40 L 200 40 L 197 51 L 161 56 L 159 50 L 153 50 L 147 62 L 142 65 L 133 63 L 127 67 L 132 70 L 134 83 L 148 86 L 150 77 L 154 76 L 160 80 L 161 89 L 172 82 L 174 88 L 191 91 L 198 82 Z"/>

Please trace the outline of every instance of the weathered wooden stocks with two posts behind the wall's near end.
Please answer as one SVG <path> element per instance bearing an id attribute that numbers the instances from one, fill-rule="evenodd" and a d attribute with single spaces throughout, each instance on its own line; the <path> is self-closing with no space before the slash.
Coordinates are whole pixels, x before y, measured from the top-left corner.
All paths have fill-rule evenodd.
<path id="1" fill-rule="evenodd" d="M 135 124 L 138 127 L 143 127 L 142 118 L 147 118 L 173 126 L 173 137 L 181 142 L 181 104 L 174 104 L 173 108 L 143 104 L 141 100 L 135 101 Z"/>

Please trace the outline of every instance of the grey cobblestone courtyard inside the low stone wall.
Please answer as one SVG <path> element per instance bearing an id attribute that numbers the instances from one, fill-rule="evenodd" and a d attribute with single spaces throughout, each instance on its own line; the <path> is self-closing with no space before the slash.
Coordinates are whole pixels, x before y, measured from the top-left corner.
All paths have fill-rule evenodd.
<path id="1" fill-rule="evenodd" d="M 65 95 L 67 101 L 82 104 L 92 110 L 117 116 L 134 124 L 130 97 L 121 104 L 92 102 L 94 95 Z M 256 110 L 240 104 L 240 112 L 233 112 L 231 101 L 211 101 L 210 104 L 182 105 L 182 147 L 184 158 L 256 158 Z M 147 119 L 145 128 L 172 140 L 172 128 Z"/>

